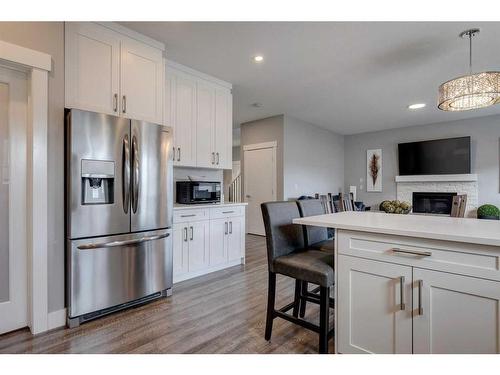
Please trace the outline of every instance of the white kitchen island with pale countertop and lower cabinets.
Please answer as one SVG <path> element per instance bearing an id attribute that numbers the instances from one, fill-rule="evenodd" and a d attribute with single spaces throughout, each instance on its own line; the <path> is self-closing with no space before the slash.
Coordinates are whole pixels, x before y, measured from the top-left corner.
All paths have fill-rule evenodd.
<path id="1" fill-rule="evenodd" d="M 500 222 L 341 212 L 335 228 L 338 353 L 499 353 Z"/>

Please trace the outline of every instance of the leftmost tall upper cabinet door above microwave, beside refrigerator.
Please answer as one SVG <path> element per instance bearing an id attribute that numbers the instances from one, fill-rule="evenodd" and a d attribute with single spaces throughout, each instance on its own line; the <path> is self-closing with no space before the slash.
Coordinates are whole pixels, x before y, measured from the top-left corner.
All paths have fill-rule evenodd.
<path id="1" fill-rule="evenodd" d="M 167 70 L 172 79 L 172 126 L 174 127 L 174 165 L 196 166 L 196 80 Z"/>

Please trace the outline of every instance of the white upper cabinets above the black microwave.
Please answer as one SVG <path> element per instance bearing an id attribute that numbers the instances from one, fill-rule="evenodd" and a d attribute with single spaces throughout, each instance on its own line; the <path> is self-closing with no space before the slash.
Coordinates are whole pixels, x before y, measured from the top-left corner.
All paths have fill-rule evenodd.
<path id="1" fill-rule="evenodd" d="M 168 61 L 165 122 L 174 128 L 174 165 L 232 168 L 231 85 Z"/>

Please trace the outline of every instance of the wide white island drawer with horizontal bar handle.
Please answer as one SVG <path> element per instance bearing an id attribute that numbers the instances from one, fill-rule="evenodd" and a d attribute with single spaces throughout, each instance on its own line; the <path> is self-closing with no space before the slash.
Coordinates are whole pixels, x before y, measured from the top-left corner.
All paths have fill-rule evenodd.
<path id="1" fill-rule="evenodd" d="M 338 252 L 500 280 L 500 249 L 403 236 L 338 231 Z"/>

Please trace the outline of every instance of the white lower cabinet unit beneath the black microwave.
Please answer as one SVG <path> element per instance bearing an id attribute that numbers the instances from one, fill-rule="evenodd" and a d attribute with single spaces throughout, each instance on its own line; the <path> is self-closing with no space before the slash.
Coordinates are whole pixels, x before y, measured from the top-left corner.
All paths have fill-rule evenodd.
<path id="1" fill-rule="evenodd" d="M 174 283 L 245 261 L 245 206 L 176 208 Z"/>

